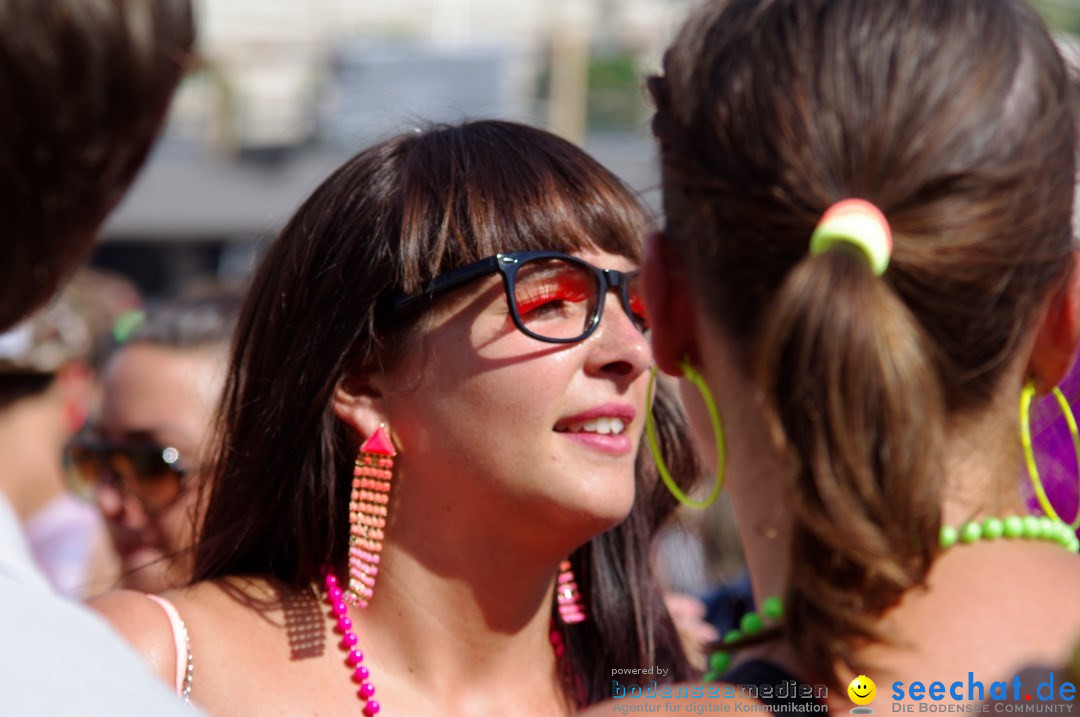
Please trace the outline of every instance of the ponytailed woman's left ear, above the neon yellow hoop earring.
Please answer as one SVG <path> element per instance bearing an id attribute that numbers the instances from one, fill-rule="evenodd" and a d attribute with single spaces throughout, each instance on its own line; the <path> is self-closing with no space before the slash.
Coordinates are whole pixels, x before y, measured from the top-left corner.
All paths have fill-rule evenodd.
<path id="1" fill-rule="evenodd" d="M 681 376 L 680 361 L 698 356 L 697 309 L 683 261 L 659 232 L 646 239 L 642 276 L 657 365 L 665 374 Z"/>

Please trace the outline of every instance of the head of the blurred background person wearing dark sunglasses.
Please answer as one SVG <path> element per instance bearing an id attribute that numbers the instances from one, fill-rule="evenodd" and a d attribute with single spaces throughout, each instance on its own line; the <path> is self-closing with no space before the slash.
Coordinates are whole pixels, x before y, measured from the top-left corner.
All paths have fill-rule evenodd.
<path id="1" fill-rule="evenodd" d="M 121 585 L 158 593 L 187 581 L 195 476 L 206 460 L 239 295 L 151 309 L 109 356 L 97 425 L 67 447 L 121 560 Z"/>

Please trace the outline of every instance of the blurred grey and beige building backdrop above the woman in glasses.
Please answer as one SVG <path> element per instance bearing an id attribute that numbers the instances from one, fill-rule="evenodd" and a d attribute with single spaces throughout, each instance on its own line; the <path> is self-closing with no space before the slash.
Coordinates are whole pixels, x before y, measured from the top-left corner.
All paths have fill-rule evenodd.
<path id="1" fill-rule="evenodd" d="M 652 188 L 639 78 L 658 65 L 687 6 L 204 0 L 201 64 L 93 261 L 149 295 L 175 293 L 199 275 L 242 278 L 336 166 L 431 122 L 496 117 L 546 126 L 582 143 L 631 186 Z M 624 126 L 588 131 L 597 53 L 616 58 L 597 66 L 602 84 L 608 66 L 622 72 L 616 104 L 604 107 L 608 125 L 613 117 Z M 594 95 L 610 99 L 610 87 L 600 90 Z"/>

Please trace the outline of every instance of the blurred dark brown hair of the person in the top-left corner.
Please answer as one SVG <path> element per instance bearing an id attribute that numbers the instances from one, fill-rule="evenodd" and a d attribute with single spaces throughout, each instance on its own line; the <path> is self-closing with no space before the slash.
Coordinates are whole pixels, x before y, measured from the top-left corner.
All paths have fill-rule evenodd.
<path id="1" fill-rule="evenodd" d="M 189 0 L 0 0 L 0 328 L 85 257 L 193 39 Z"/>

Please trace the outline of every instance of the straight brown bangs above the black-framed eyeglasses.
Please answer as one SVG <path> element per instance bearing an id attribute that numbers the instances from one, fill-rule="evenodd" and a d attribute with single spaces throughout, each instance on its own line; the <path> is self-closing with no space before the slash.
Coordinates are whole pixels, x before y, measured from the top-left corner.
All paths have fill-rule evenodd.
<path id="1" fill-rule="evenodd" d="M 511 122 L 440 126 L 401 147 L 402 288 L 505 252 L 602 251 L 640 262 L 637 195 L 575 145 Z"/>

